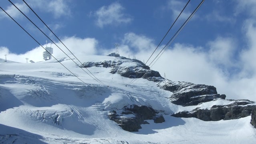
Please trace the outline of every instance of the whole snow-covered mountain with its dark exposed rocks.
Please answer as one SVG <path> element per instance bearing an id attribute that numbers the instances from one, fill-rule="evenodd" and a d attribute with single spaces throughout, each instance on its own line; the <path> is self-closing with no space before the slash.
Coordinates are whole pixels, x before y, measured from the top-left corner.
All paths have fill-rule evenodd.
<path id="1" fill-rule="evenodd" d="M 0 62 L 1 143 L 256 142 L 256 105 L 250 100 L 164 79 L 135 59 L 77 57 L 83 65 L 58 60 L 85 83 L 56 60 Z"/>

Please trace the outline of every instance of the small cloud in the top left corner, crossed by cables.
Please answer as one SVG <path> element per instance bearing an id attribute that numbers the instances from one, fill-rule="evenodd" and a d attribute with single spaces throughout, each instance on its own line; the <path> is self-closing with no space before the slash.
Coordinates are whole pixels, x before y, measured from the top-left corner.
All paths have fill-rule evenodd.
<path id="1" fill-rule="evenodd" d="M 26 6 L 26 4 L 22 3 L 14 3 L 15 6 L 17 6 L 24 14 L 27 14 L 29 12 L 28 7 Z M 21 18 L 22 13 L 13 5 L 8 6 L 5 11 L 12 16 L 12 18 Z M 3 8 L 4 9 L 4 8 Z M 0 19 L 1 18 L 5 18 L 5 17 L 9 17 L 5 12 L 3 12 L 1 10 L 0 12 Z M 23 17 L 22 17 L 23 18 Z"/>

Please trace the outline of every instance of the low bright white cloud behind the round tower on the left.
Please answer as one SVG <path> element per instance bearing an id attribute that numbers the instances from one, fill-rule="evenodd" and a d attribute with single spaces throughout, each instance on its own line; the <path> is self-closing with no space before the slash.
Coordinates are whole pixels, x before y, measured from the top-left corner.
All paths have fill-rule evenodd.
<path id="1" fill-rule="evenodd" d="M 96 48 L 97 48 L 97 40 L 94 38 L 77 38 L 75 36 L 64 38 L 62 42 L 69 48 L 69 50 L 73 54 L 97 54 Z M 64 52 L 66 52 L 68 55 L 71 55 L 71 53 L 63 46 L 60 42 L 56 43 Z M 48 43 L 48 46 L 50 44 Z M 43 45 L 46 47 L 46 45 Z M 54 44 L 51 45 L 53 48 L 53 56 L 58 57 L 67 57 L 61 50 L 59 50 Z M 43 61 L 42 53 L 45 50 L 38 46 L 24 54 L 14 54 L 8 50 L 6 47 L 0 47 L 0 55 L 4 56 L 7 54 L 7 60 L 11 60 L 14 62 L 26 62 L 26 58 L 29 58 L 29 60 L 33 60 L 34 62 Z M 71 58 L 74 58 L 73 56 L 70 56 Z"/>

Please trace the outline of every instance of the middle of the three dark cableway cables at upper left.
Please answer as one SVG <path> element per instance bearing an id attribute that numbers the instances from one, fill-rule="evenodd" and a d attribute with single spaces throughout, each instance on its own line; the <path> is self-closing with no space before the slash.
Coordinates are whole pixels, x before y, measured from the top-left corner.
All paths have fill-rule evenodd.
<path id="1" fill-rule="evenodd" d="M 14 3 L 12 3 L 10 0 L 8 0 L 13 6 L 15 6 L 32 24 L 34 24 L 34 22 L 32 22 L 30 20 L 30 18 L 28 18 L 26 16 L 26 14 L 24 14 Z M 34 24 L 34 26 L 36 26 L 36 24 Z M 38 26 L 36 26 L 36 28 L 38 28 Z M 38 30 L 40 30 L 40 32 L 42 32 L 44 34 L 44 36 L 46 36 L 53 44 L 55 44 L 55 46 L 57 46 L 64 54 L 66 54 L 66 56 L 68 56 L 76 65 L 78 65 L 67 53 L 65 53 L 55 42 L 53 42 L 52 39 L 50 39 L 40 28 L 38 28 Z M 78 65 L 79 66 L 79 65 Z M 79 66 L 80 67 L 80 66 Z M 81 68 L 81 67 L 80 67 Z M 85 73 L 87 73 L 91 78 L 93 78 L 88 72 L 86 72 L 83 68 L 81 68 Z M 87 69 L 87 68 L 86 68 Z M 88 69 L 87 69 L 88 70 Z M 96 80 L 97 82 L 99 82 L 100 84 L 103 84 L 105 86 L 107 86 L 106 84 L 104 84 L 103 82 L 101 82 L 100 80 L 97 80 L 95 78 L 93 78 L 94 80 Z"/>

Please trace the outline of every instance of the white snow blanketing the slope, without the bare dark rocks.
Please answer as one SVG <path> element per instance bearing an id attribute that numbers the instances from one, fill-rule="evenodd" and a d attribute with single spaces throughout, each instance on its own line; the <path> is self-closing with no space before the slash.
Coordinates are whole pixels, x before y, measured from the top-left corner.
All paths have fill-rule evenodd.
<path id="1" fill-rule="evenodd" d="M 111 56 L 77 56 L 81 62 L 121 60 Z M 88 76 L 68 58 L 58 58 L 86 84 L 56 60 L 36 63 L 0 61 L 0 143 L 4 144 L 255 144 L 256 128 L 250 116 L 236 120 L 202 121 L 170 116 L 197 107 L 230 104 L 216 100 L 197 106 L 179 106 L 172 93 L 156 82 L 111 74 L 111 68 L 88 68 L 101 82 Z M 74 59 L 75 60 L 75 59 Z M 77 60 L 75 62 L 78 63 Z M 131 66 L 136 63 L 123 63 Z M 85 69 L 85 68 L 84 68 Z M 86 69 L 85 69 L 86 70 Z M 165 122 L 142 124 L 128 132 L 109 119 L 110 111 L 130 105 L 151 106 Z M 133 114 L 123 115 L 133 117 Z"/>

